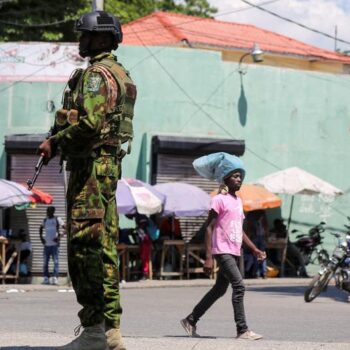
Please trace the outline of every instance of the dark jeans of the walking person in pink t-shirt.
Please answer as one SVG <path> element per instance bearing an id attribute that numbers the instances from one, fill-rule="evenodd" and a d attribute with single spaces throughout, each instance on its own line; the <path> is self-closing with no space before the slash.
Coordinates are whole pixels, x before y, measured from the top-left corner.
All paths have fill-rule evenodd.
<path id="1" fill-rule="evenodd" d="M 243 303 L 245 287 L 238 267 L 238 257 L 231 254 L 215 255 L 214 257 L 219 266 L 216 282 L 195 306 L 188 316 L 188 320 L 195 325 L 205 312 L 226 293 L 228 285 L 231 284 L 232 306 L 237 334 L 244 333 L 248 329 Z"/>

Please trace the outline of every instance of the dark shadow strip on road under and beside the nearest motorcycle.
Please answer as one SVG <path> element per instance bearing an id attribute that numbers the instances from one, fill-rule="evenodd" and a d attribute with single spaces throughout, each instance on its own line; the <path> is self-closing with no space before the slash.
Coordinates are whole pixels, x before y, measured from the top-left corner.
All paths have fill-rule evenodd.
<path id="1" fill-rule="evenodd" d="M 294 295 L 304 298 L 304 292 L 307 288 L 305 286 L 266 286 L 266 287 L 253 287 L 250 286 L 247 288 L 249 291 L 268 293 L 268 294 L 279 294 L 279 295 Z M 331 298 L 336 301 L 348 302 L 349 294 L 337 289 L 334 286 L 328 286 L 325 292 L 322 292 L 317 298 Z"/>

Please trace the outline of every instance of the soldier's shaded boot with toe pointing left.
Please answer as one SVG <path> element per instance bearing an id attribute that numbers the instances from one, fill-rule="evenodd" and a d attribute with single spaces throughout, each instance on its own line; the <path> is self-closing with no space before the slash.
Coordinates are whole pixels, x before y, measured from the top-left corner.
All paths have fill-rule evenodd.
<path id="1" fill-rule="evenodd" d="M 79 332 L 79 331 L 78 331 Z M 67 345 L 60 346 L 56 350 L 106 350 L 107 341 L 105 323 L 85 327 L 80 336 Z"/>

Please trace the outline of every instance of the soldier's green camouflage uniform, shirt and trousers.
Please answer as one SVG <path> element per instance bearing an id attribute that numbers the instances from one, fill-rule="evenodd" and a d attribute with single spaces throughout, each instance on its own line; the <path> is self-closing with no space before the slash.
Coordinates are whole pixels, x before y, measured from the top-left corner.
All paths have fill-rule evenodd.
<path id="1" fill-rule="evenodd" d="M 106 327 L 119 328 L 122 308 L 115 192 L 121 173 L 121 141 L 111 135 L 115 125 L 108 115 L 120 107 L 125 89 L 100 65 L 103 62 L 118 65 L 118 72 L 128 77 L 112 54 L 93 58 L 73 91 L 79 119 L 58 131 L 55 141 L 70 170 L 68 265 L 77 300 L 83 306 L 78 313 L 81 324 L 89 327 L 105 320 Z M 135 101 L 136 88 L 129 95 Z"/>

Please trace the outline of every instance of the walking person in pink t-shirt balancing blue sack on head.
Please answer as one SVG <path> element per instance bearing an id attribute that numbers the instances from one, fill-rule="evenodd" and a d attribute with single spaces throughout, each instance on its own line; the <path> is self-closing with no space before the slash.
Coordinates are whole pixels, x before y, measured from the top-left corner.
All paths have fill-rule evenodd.
<path id="1" fill-rule="evenodd" d="M 241 199 L 236 195 L 236 191 L 240 189 L 245 176 L 243 163 L 238 157 L 220 152 L 201 157 L 193 165 L 201 175 L 208 173 L 208 169 L 210 170 L 211 167 L 215 179 L 224 182 L 228 187 L 228 193 L 219 193 L 212 198 L 207 219 L 204 272 L 212 273 L 214 258 L 219 267 L 216 282 L 193 311 L 181 320 L 181 325 L 189 336 L 198 336 L 196 332 L 197 322 L 226 293 L 229 284 L 231 284 L 237 338 L 261 339 L 262 336 L 250 330 L 246 322 L 243 301 L 245 286 L 238 267 L 242 241 L 259 259 L 265 257 L 264 252 L 253 244 L 242 229 L 243 205 Z M 203 168 L 206 168 L 205 171 L 201 171 Z"/>

